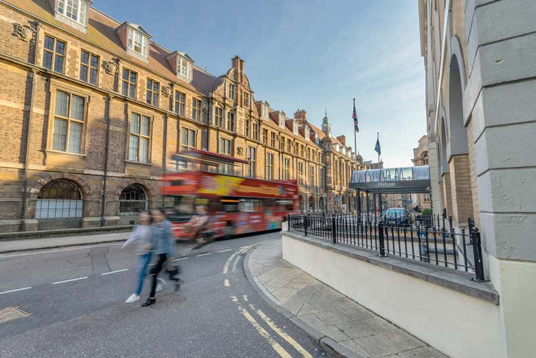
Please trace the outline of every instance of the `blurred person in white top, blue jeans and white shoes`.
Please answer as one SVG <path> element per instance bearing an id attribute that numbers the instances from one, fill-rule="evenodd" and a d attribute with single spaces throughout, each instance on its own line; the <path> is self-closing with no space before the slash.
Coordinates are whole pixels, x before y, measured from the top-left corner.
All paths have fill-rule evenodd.
<path id="1" fill-rule="evenodd" d="M 137 264 L 137 288 L 136 291 L 125 303 L 133 303 L 139 300 L 139 294 L 142 293 L 142 287 L 144 285 L 144 278 L 146 276 L 147 266 L 149 265 L 150 258 L 153 256 L 153 228 L 150 226 L 152 220 L 149 212 L 144 210 L 139 213 L 139 225 L 134 227 L 134 231 L 131 234 L 129 240 L 126 240 L 121 249 L 129 246 L 131 243 L 137 241 L 136 254 L 138 256 Z"/>

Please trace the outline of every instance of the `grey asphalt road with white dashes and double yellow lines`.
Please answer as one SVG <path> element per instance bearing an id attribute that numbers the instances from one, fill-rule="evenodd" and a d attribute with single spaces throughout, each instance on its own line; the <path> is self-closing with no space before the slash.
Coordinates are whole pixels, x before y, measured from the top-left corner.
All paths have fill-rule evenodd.
<path id="1" fill-rule="evenodd" d="M 245 276 L 247 251 L 278 237 L 221 240 L 192 252 L 177 261 L 181 290 L 168 282 L 147 308 L 140 304 L 148 283 L 139 302 L 124 303 L 135 289 L 132 248 L 2 254 L 0 357 L 326 357 Z"/>

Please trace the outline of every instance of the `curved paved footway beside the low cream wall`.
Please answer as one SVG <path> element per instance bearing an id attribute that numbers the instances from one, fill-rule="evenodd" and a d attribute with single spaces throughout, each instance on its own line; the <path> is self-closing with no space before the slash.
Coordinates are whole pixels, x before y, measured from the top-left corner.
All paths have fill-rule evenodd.
<path id="1" fill-rule="evenodd" d="M 338 357 L 448 358 L 282 259 L 281 239 L 258 245 L 247 271 L 265 297 Z"/>

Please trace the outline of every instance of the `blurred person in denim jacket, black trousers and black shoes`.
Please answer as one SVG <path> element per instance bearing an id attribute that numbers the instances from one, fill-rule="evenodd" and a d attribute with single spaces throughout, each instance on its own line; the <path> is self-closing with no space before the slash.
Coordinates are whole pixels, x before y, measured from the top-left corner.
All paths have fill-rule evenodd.
<path id="1" fill-rule="evenodd" d="M 142 307 L 150 306 L 156 302 L 158 274 L 166 267 L 166 261 L 172 260 L 175 255 L 175 241 L 171 234 L 171 223 L 166 220 L 164 208 L 153 209 L 150 214 L 153 217 L 153 253 L 157 256 L 157 262 L 149 271 L 149 276 L 153 280 L 150 285 L 149 297 L 142 304 Z"/>

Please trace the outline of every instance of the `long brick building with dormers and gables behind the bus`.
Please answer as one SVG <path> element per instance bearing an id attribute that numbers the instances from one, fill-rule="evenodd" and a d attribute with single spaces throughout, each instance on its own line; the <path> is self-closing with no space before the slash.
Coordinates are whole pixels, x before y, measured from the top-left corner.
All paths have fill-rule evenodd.
<path id="1" fill-rule="evenodd" d="M 130 223 L 189 148 L 298 179 L 303 209 L 324 208 L 326 190 L 350 202 L 344 137 L 255 100 L 238 56 L 212 76 L 89 0 L 1 1 L 0 29 L 0 231 Z"/>

